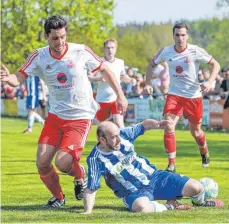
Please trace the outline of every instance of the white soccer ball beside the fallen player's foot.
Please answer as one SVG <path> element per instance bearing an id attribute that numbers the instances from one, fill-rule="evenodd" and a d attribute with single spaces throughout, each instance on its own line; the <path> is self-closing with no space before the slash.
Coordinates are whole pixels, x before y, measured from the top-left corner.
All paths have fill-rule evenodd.
<path id="1" fill-rule="evenodd" d="M 200 183 L 203 185 L 205 190 L 205 199 L 216 198 L 219 193 L 219 187 L 215 180 L 204 177 L 200 179 Z"/>

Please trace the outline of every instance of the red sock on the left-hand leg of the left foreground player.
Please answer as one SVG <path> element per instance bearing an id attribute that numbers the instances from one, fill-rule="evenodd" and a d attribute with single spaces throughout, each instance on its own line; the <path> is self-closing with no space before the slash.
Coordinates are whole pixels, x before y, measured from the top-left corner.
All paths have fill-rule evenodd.
<path id="1" fill-rule="evenodd" d="M 44 185 L 49 189 L 53 197 L 60 200 L 64 199 L 63 192 L 59 182 L 59 175 L 53 167 L 47 175 L 40 175 L 40 178 Z"/>

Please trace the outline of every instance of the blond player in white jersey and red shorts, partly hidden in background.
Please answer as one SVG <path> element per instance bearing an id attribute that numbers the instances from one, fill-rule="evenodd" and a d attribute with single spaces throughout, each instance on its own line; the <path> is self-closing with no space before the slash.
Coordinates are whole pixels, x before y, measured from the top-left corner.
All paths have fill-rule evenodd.
<path id="1" fill-rule="evenodd" d="M 125 71 L 124 61 L 122 59 L 116 58 L 115 54 L 117 51 L 118 43 L 115 39 L 109 38 L 104 41 L 104 57 L 102 58 L 103 63 L 106 64 L 110 70 L 113 72 L 114 77 L 120 84 L 120 81 L 125 83 L 132 83 L 134 86 L 136 80 L 130 78 Z M 117 108 L 116 99 L 117 95 L 114 90 L 106 83 L 100 72 L 94 75 L 89 75 L 91 81 L 99 81 L 96 101 L 100 105 L 100 110 L 96 114 L 96 118 L 99 122 L 112 119 L 114 123 L 119 127 L 124 127 L 123 115 L 121 111 Z"/>

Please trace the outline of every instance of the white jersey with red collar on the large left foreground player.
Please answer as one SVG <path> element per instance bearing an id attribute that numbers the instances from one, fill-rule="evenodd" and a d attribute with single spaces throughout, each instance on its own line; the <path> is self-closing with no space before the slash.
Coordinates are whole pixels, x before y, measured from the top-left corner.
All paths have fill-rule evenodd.
<path id="1" fill-rule="evenodd" d="M 49 46 L 37 49 L 19 72 L 39 76 L 49 89 L 50 113 L 64 120 L 93 119 L 98 103 L 93 99 L 87 72 L 95 72 L 102 60 L 85 45 L 67 43 L 59 58 Z"/>

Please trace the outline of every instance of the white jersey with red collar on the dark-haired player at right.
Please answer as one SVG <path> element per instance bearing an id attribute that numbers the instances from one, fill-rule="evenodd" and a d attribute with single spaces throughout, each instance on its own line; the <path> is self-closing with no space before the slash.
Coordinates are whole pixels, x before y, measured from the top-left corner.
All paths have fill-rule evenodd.
<path id="1" fill-rule="evenodd" d="M 161 49 L 154 57 L 155 64 L 166 61 L 169 65 L 169 94 L 186 98 L 201 97 L 198 71 L 200 62 L 209 63 L 212 59 L 204 49 L 188 44 L 178 52 L 174 45 Z"/>

